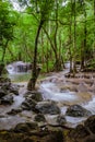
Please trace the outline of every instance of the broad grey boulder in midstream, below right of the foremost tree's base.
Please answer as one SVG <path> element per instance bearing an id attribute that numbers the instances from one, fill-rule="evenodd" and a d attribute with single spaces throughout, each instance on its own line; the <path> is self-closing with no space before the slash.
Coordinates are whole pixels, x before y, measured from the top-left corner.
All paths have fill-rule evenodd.
<path id="1" fill-rule="evenodd" d="M 39 102 L 35 107 L 41 114 L 60 114 L 60 108 L 54 102 Z"/>

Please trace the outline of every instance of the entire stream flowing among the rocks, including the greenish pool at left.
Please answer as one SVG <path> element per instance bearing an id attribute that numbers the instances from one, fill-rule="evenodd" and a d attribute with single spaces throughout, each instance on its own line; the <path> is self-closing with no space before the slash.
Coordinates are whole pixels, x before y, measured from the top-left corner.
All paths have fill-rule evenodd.
<path id="1" fill-rule="evenodd" d="M 67 71 L 59 73 L 51 73 L 45 79 L 38 81 L 39 92 L 43 94 L 45 100 L 54 100 L 58 104 L 61 109 L 61 114 L 64 115 L 69 105 L 79 104 L 91 110 L 95 115 L 95 91 L 94 91 L 94 78 L 84 79 L 82 74 L 80 78 L 66 79 L 64 74 Z M 29 73 L 16 73 L 8 74 L 8 78 L 12 80 L 13 83 L 21 85 L 20 95 L 14 97 L 14 103 L 11 106 L 0 107 L 0 129 L 10 129 L 19 122 L 32 121 L 34 114 L 29 111 L 23 111 L 16 116 L 8 116 L 7 113 L 13 108 L 19 108 L 19 106 L 24 100 L 23 94 L 26 91 L 26 84 L 28 82 Z M 1 117 L 2 116 L 2 117 Z M 4 118 L 3 118 L 4 116 Z M 49 123 L 55 123 L 55 115 L 46 115 L 46 119 Z M 70 127 L 75 127 L 76 125 L 83 122 L 86 117 L 69 117 L 66 116 L 67 123 Z"/>

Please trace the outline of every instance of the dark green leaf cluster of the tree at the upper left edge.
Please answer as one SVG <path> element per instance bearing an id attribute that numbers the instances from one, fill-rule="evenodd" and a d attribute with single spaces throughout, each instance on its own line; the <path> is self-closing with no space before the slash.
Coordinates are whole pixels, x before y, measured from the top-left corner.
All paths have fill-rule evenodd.
<path id="1" fill-rule="evenodd" d="M 10 12 L 9 3 L 0 1 L 0 46 L 3 46 L 4 40 L 13 39 L 14 25 L 15 20 Z"/>

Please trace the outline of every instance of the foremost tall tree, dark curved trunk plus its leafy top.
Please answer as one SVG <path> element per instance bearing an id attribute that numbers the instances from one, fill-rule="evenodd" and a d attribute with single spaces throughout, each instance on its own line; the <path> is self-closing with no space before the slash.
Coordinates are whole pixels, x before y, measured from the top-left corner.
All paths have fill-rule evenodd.
<path id="1" fill-rule="evenodd" d="M 39 34 L 40 34 L 43 25 L 48 20 L 50 8 L 52 8 L 52 2 L 50 0 L 48 0 L 48 1 L 45 0 L 41 2 L 36 1 L 36 11 L 39 12 L 40 17 L 39 17 L 39 24 L 38 24 L 36 37 L 35 37 L 32 79 L 29 80 L 29 82 L 27 84 L 27 90 L 29 90 L 29 91 L 35 90 L 36 80 L 37 80 L 39 71 L 40 71 L 40 68 L 39 67 L 37 68 L 38 38 L 39 38 Z"/>

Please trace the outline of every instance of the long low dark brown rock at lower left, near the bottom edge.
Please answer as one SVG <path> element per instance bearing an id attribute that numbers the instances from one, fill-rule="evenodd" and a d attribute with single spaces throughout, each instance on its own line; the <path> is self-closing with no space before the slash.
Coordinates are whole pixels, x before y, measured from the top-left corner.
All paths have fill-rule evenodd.
<path id="1" fill-rule="evenodd" d="M 25 122 L 25 123 L 19 123 L 13 129 L 14 132 L 29 132 L 32 130 L 37 129 L 38 126 L 36 122 Z"/>

